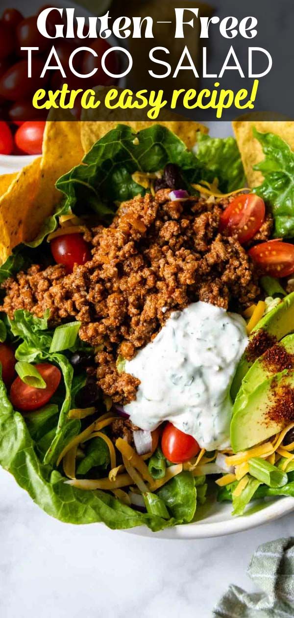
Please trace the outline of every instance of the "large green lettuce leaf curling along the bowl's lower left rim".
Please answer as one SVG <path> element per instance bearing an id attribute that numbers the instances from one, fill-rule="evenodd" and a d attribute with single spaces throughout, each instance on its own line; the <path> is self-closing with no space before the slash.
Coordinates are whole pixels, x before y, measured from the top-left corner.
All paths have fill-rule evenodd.
<path id="1" fill-rule="evenodd" d="M 81 491 L 64 483 L 51 465 L 41 464 L 24 418 L 12 408 L 0 379 L 0 464 L 48 515 L 67 523 L 104 522 L 109 528 L 125 529 L 143 524 L 157 531 L 173 525 L 137 512 L 103 491 Z"/>

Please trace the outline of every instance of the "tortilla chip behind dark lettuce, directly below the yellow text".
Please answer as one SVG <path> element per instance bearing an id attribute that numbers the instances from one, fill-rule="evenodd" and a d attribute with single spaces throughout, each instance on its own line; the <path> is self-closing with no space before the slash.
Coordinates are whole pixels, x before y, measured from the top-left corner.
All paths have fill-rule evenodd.
<path id="1" fill-rule="evenodd" d="M 107 91 L 110 87 L 98 87 L 94 88 L 95 91 L 99 91 L 99 99 L 104 101 Z M 124 90 L 123 88 L 117 88 L 119 92 Z M 183 142 L 186 144 L 189 150 L 193 148 L 197 142 L 197 133 L 208 133 L 208 129 L 204 125 L 198 122 L 187 121 L 185 117 L 174 114 L 174 112 L 168 109 L 162 109 L 159 121 L 142 121 L 142 112 L 140 109 L 128 110 L 128 117 L 132 117 L 131 121 L 124 121 L 122 114 L 125 112 L 119 109 L 106 109 L 103 103 L 97 109 L 85 109 L 82 112 L 81 122 L 81 140 L 83 150 L 87 153 L 93 144 L 97 142 L 108 131 L 115 129 L 117 124 L 127 124 L 132 127 L 136 132 L 147 129 L 153 124 L 162 124 L 170 131 L 173 131 Z M 101 120 L 100 120 L 101 118 Z"/>

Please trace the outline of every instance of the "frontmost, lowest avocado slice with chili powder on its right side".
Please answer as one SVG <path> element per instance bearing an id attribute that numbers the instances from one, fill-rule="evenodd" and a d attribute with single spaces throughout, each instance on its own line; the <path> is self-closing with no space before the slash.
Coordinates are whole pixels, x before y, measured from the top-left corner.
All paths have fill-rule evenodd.
<path id="1" fill-rule="evenodd" d="M 262 382 L 246 400 L 242 399 L 241 405 L 236 400 L 230 425 L 233 452 L 245 451 L 284 429 L 287 421 L 282 417 L 277 420 L 276 410 L 284 399 L 285 389 L 287 393 L 293 392 L 294 404 L 293 371 L 281 371 Z"/>

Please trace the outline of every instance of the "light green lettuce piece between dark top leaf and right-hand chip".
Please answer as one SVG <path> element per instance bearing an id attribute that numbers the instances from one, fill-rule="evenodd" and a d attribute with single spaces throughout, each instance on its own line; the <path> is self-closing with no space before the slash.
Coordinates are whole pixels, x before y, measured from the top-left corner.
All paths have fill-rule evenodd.
<path id="1" fill-rule="evenodd" d="M 213 182 L 217 178 L 222 193 L 245 187 L 243 164 L 233 137 L 222 139 L 200 133 L 196 154 L 203 166 L 201 180 Z"/>

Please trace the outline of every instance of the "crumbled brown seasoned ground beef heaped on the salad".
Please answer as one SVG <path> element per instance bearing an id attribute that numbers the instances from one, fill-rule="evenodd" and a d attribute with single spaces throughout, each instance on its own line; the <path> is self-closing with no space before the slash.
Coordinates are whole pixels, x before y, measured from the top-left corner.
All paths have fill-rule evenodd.
<path id="1" fill-rule="evenodd" d="M 245 250 L 219 234 L 228 200 L 134 198 L 120 206 L 110 227 L 92 230 L 93 259 L 65 274 L 62 266 L 8 279 L 2 310 L 25 308 L 36 316 L 50 310 L 52 324 L 77 318 L 80 337 L 96 347 L 97 379 L 115 402 L 135 398 L 139 381 L 118 375 L 120 353 L 132 358 L 159 331 L 172 310 L 196 300 L 245 308 L 259 294 Z"/>

